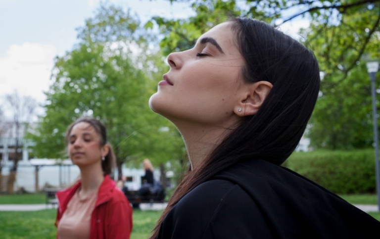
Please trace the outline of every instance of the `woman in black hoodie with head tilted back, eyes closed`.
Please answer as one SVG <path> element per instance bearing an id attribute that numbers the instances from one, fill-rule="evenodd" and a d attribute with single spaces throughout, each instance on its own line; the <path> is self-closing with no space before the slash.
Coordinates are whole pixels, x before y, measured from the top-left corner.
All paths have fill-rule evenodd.
<path id="1" fill-rule="evenodd" d="M 281 164 L 317 100 L 313 52 L 234 18 L 168 56 L 149 99 L 185 142 L 190 168 L 151 239 L 368 238 L 380 222 Z"/>

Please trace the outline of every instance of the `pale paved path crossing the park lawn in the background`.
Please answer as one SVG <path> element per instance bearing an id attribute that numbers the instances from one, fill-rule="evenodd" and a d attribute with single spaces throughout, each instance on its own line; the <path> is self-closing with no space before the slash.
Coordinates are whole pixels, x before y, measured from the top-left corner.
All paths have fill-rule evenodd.
<path id="1" fill-rule="evenodd" d="M 141 203 L 141 210 L 163 210 L 167 203 Z M 354 205 L 365 212 L 378 212 L 378 205 Z M 37 211 L 56 208 L 46 204 L 0 204 L 0 211 Z"/>

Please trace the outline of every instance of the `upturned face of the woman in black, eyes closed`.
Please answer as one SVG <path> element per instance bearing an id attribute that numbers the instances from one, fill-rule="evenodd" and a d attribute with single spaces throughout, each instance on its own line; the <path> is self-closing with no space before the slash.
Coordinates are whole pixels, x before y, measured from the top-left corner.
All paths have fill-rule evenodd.
<path id="1" fill-rule="evenodd" d="M 170 70 L 149 99 L 150 108 L 175 124 L 224 126 L 244 88 L 244 60 L 235 44 L 232 23 L 203 34 L 194 48 L 171 53 Z"/>

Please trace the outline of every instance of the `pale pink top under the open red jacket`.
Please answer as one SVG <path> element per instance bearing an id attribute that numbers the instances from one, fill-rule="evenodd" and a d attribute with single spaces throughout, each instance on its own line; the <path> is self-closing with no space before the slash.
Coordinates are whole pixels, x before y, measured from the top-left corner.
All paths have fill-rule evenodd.
<path id="1" fill-rule="evenodd" d="M 90 238 L 91 214 L 95 207 L 96 195 L 97 191 L 94 191 L 86 198 L 80 198 L 79 190 L 75 192 L 58 223 L 59 239 Z"/>

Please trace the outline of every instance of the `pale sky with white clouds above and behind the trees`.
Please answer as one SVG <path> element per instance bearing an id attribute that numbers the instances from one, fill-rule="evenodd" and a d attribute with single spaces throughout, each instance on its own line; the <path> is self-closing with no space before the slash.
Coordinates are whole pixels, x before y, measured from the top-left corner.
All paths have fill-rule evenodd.
<path id="1" fill-rule="evenodd" d="M 169 0 L 109 0 L 131 8 L 142 22 L 153 15 L 182 18 L 189 3 Z M 0 0 L 0 97 L 15 89 L 44 102 L 53 59 L 71 50 L 76 28 L 94 16 L 99 0 Z M 293 23 L 294 24 L 294 23 Z M 305 26 L 295 23 L 294 28 Z"/>

